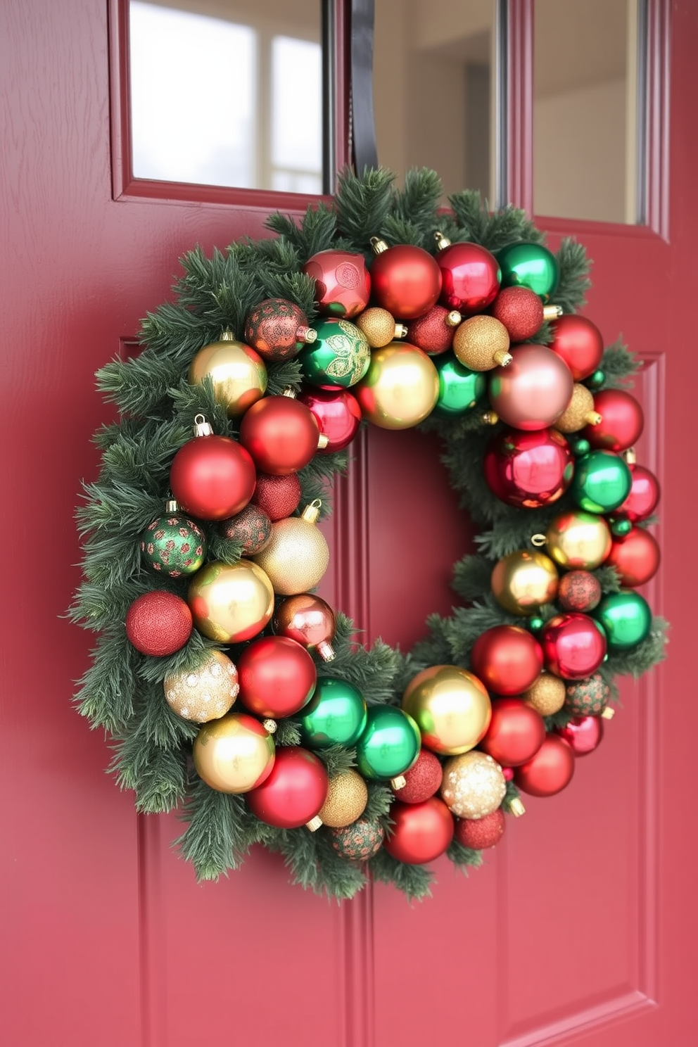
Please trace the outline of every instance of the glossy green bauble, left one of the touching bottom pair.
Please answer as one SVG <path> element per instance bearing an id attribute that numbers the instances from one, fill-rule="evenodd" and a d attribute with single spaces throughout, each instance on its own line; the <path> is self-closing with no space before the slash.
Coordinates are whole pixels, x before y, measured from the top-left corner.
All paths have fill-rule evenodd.
<path id="1" fill-rule="evenodd" d="M 366 726 L 366 703 L 345 680 L 320 678 L 298 720 L 310 749 L 353 745 Z"/>

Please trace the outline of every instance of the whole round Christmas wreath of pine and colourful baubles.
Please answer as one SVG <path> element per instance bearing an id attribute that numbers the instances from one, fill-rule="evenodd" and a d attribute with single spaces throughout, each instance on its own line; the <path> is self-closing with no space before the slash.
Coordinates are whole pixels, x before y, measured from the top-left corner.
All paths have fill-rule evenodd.
<path id="1" fill-rule="evenodd" d="M 142 352 L 97 373 L 119 421 L 77 511 L 71 616 L 97 640 L 76 704 L 137 809 L 180 808 L 200 878 L 256 843 L 317 892 L 421 896 L 437 855 L 479 864 L 520 790 L 565 787 L 614 677 L 663 656 L 636 592 L 659 561 L 636 363 L 576 312 L 585 252 L 441 199 L 432 171 L 344 172 L 275 237 L 187 253 Z M 461 604 L 409 652 L 314 592 L 362 424 L 442 436 L 480 528 Z"/>

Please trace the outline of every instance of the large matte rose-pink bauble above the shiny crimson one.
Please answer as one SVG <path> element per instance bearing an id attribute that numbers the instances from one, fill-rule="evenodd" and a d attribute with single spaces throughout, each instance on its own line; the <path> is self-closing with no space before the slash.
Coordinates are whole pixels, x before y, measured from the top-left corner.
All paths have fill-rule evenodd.
<path id="1" fill-rule="evenodd" d="M 513 346 L 512 362 L 490 377 L 490 403 L 515 429 L 546 429 L 571 399 L 575 380 L 567 364 L 546 346 Z"/>

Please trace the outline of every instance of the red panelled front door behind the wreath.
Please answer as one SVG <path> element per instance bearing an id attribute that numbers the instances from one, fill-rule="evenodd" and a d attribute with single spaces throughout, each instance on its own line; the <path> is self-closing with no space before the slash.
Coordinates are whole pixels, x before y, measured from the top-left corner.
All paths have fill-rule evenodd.
<path id="1" fill-rule="evenodd" d="M 514 41 L 525 39 L 528 8 L 513 5 Z M 648 595 L 672 622 L 669 661 L 624 687 L 603 747 L 565 793 L 527 803 L 482 869 L 465 879 L 437 863 L 433 897 L 414 907 L 382 886 L 337 906 L 289 886 L 265 853 L 198 886 L 171 848 L 177 819 L 135 815 L 104 774 L 105 739 L 71 708 L 88 665 L 86 634 L 63 617 L 78 581 L 73 513 L 81 478 L 95 473 L 91 435 L 107 417 L 93 373 L 128 351 L 140 317 L 167 297 L 182 252 L 258 236 L 265 209 L 224 195 L 116 199 L 107 4 L 6 0 L 3 1047 L 696 1042 L 684 347 L 698 229 L 698 9 L 675 0 L 671 16 L 667 50 L 657 32 L 653 55 L 671 57 L 672 101 L 669 112 L 652 99 L 660 140 L 650 225 L 540 220 L 554 243 L 567 232 L 585 243 L 588 314 L 607 341 L 622 332 L 645 361 L 639 451 L 663 488 L 663 566 Z M 521 63 L 514 68 L 524 83 Z M 510 192 L 526 204 L 521 97 Z M 332 526 L 327 594 L 368 637 L 402 646 L 430 610 L 448 609 L 449 565 L 468 534 L 434 453 L 416 433 L 371 432 Z M 408 542 L 420 556 L 406 565 Z"/>

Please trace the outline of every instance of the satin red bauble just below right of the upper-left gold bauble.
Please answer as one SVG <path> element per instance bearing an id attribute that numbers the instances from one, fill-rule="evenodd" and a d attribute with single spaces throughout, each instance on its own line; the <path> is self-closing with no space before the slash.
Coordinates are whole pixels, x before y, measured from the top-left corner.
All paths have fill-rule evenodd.
<path id="1" fill-rule="evenodd" d="M 240 423 L 241 444 L 257 469 L 274 476 L 286 476 L 308 465 L 317 450 L 319 435 L 312 410 L 290 396 L 257 400 Z"/>

